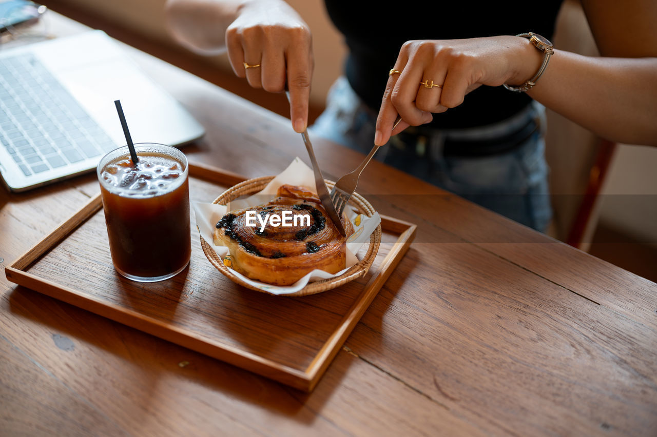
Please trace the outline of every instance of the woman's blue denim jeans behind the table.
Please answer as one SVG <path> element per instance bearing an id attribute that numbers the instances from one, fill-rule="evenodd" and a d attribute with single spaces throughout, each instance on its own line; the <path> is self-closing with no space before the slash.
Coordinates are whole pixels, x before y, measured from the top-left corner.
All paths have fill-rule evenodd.
<path id="1" fill-rule="evenodd" d="M 443 154 L 445 140 L 500 138 L 528 121 L 537 123 L 537 129 L 507 152 L 474 157 Z M 313 135 L 367 154 L 373 146 L 375 126 L 376 113 L 361 102 L 346 78 L 340 77 L 328 94 L 325 112 L 311 130 Z M 403 135 L 392 137 L 375 159 L 544 232 L 552 216 L 544 134 L 545 108 L 535 103 L 494 125 L 459 130 L 409 127 Z"/>

